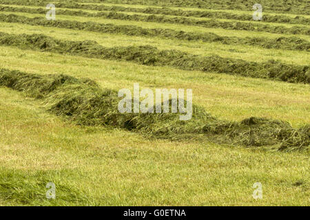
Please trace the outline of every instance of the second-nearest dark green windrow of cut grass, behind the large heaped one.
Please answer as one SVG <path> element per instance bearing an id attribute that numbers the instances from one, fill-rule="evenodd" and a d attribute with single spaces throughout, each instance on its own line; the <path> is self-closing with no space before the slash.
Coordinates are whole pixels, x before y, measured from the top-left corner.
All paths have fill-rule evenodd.
<path id="1" fill-rule="evenodd" d="M 88 58 L 132 61 L 141 65 L 167 65 L 185 70 L 269 78 L 289 83 L 310 83 L 310 68 L 308 65 L 288 65 L 273 60 L 256 63 L 220 56 L 193 55 L 178 50 L 158 50 L 150 45 L 103 47 L 95 41 L 65 41 L 43 34 L 28 35 L 0 32 L 0 43 L 2 45 L 17 46 L 21 49 L 71 54 Z"/>

